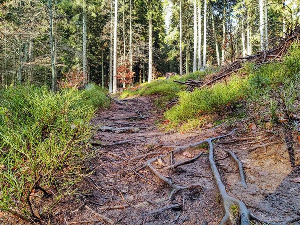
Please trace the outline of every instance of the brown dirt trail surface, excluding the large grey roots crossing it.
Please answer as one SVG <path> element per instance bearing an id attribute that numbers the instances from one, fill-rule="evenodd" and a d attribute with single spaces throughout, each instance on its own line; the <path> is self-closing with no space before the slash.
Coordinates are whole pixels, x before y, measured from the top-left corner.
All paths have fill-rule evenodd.
<path id="1" fill-rule="evenodd" d="M 96 133 L 94 141 L 104 146 L 93 146 L 95 159 L 91 161 L 90 166 L 95 172 L 85 178 L 86 184 L 93 190 L 86 196 L 85 206 L 70 216 L 69 224 L 74 221 L 103 221 L 99 214 L 111 219 L 113 221 L 110 221 L 111 224 L 219 224 L 224 216 L 224 210 L 210 169 L 207 148 L 190 150 L 191 156 L 201 152 L 203 154 L 193 163 L 178 166 L 170 171 L 159 169 L 164 161 L 160 162 L 161 165 L 156 164 L 161 174 L 178 185 L 188 186 L 195 183 L 201 185 L 179 191 L 170 201 L 168 197 L 172 188 L 159 180 L 153 172 L 145 168 L 137 175 L 132 170 L 148 159 L 168 152 L 174 146 L 223 135 L 231 129 L 221 127 L 188 133 L 163 133 L 156 128 L 155 122 L 161 115 L 155 109 L 152 97 L 139 97 L 124 102 L 126 104 L 113 103 L 110 109 L 100 111 L 93 123 L 115 128 L 134 127 L 139 131 Z M 290 179 L 300 176 L 299 164 L 296 163 L 293 168 L 291 167 L 284 144 L 247 150 L 259 143 L 248 143 L 255 142 L 253 140 L 228 143 L 228 140 L 235 137 L 265 136 L 259 131 L 250 133 L 247 131 L 244 135 L 241 133 L 245 133 L 244 129 L 214 143 L 214 158 L 227 192 L 243 201 L 250 212 L 263 220 L 278 222 L 295 217 L 300 212 L 298 191 L 300 185 L 291 182 Z M 274 141 L 272 136 L 264 138 Z M 118 144 L 120 141 L 126 143 Z M 231 157 L 227 157 L 224 149 L 234 152 L 242 161 L 247 189 L 239 185 L 238 167 Z M 175 160 L 187 160 L 189 157 L 190 155 L 185 153 L 176 156 Z M 298 157 L 297 151 L 296 162 Z M 82 202 L 74 204 L 73 210 L 81 204 Z M 151 215 L 144 214 L 174 204 L 179 204 L 179 208 Z M 89 224 L 106 224 L 106 222 L 89 222 Z"/>

